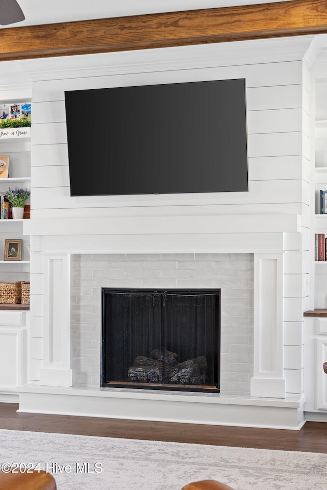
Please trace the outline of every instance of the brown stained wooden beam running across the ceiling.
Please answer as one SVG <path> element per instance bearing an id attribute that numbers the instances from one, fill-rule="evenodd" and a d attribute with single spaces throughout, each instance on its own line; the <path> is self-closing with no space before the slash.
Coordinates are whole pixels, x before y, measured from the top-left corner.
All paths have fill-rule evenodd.
<path id="1" fill-rule="evenodd" d="M 326 32 L 327 0 L 293 0 L 0 29 L 0 61 Z"/>

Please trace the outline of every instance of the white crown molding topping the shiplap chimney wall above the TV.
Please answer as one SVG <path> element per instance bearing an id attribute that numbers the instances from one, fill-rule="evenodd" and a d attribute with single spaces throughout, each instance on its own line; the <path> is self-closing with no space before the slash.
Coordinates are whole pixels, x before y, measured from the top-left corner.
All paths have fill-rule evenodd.
<path id="1" fill-rule="evenodd" d="M 314 36 L 260 39 L 15 61 L 34 81 L 286 61 L 310 65 Z M 309 54 L 307 52 L 309 51 Z"/>

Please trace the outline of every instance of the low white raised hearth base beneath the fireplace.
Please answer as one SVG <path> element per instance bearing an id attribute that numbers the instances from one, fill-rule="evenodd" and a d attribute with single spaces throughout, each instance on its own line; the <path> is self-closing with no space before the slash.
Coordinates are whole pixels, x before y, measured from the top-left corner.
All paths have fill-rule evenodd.
<path id="1" fill-rule="evenodd" d="M 18 411 L 293 430 L 304 423 L 304 399 L 299 398 L 277 401 L 135 391 L 22 386 Z"/>

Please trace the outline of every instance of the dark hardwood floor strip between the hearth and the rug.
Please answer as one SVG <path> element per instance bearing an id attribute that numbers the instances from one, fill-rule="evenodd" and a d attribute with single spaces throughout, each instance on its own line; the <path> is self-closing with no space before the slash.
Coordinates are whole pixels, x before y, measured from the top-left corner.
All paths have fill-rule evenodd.
<path id="1" fill-rule="evenodd" d="M 0 429 L 327 453 L 327 423 L 323 422 L 307 422 L 299 431 L 252 429 L 17 413 L 17 408 L 16 404 L 0 403 Z"/>

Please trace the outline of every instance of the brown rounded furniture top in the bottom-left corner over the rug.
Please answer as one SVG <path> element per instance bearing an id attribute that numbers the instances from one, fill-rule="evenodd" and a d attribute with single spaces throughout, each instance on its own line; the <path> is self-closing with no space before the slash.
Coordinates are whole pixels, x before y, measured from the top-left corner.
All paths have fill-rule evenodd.
<path id="1" fill-rule="evenodd" d="M 43 470 L 32 473 L 3 473 L 0 471 L 1 490 L 56 490 L 56 482 Z"/>

